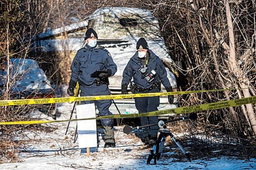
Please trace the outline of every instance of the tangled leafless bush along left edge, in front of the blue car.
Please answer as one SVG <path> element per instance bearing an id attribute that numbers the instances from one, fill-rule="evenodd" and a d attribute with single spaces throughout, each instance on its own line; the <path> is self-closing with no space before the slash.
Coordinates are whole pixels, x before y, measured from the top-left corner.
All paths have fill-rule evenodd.
<path id="1" fill-rule="evenodd" d="M 41 96 L 42 92 L 36 86 L 37 82 L 30 79 L 32 70 L 37 69 L 33 68 L 33 66 L 37 67 L 37 65 L 26 66 L 25 63 L 25 60 L 30 57 L 30 51 L 33 50 L 31 48 L 32 37 L 39 31 L 40 14 L 36 15 L 36 9 L 29 11 L 31 9 L 30 6 L 27 6 L 22 1 L 1 1 L 0 9 L 0 100 L 29 99 Z M 28 14 L 31 15 L 32 13 L 33 17 L 28 16 Z M 14 60 L 17 62 L 14 63 Z M 37 70 L 39 71 L 38 74 L 43 75 L 39 69 Z M 37 72 L 34 72 L 34 74 L 37 74 Z M 22 81 L 24 84 L 28 83 L 28 85 L 32 86 L 33 88 L 31 89 L 33 91 L 25 91 L 25 85 L 20 85 Z M 45 82 L 45 84 L 48 83 Z M 44 86 L 44 83 L 42 83 L 42 86 Z M 51 92 L 54 93 L 54 91 Z M 0 122 L 31 120 L 32 113 L 35 110 L 50 115 L 52 114 L 51 108 L 54 109 L 52 106 L 42 105 L 1 106 Z M 19 125 L 0 126 L 0 163 L 18 161 L 19 140 L 17 138 L 23 135 L 21 130 L 33 127 Z M 17 134 L 16 132 L 20 133 Z"/>

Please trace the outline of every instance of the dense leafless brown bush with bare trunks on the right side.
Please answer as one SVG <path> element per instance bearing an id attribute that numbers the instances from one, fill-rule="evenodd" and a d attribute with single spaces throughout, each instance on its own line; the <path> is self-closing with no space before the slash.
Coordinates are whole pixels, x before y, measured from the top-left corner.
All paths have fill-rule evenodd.
<path id="1" fill-rule="evenodd" d="M 255 86 L 255 59 L 252 57 L 255 55 L 255 14 L 252 12 L 255 11 L 255 4 L 251 1 L 228 4 L 233 23 L 236 23 L 233 25 L 232 40 L 231 33 L 228 35 L 227 4 L 226 1 L 164 1 L 155 5 L 156 15 L 165 19 L 160 23 L 170 54 L 176 60 L 174 66 L 188 82 L 182 84 L 183 89 Z M 236 46 L 231 48 L 233 44 Z M 247 62 L 242 62 L 241 58 L 246 58 Z M 183 106 L 251 95 L 255 95 L 255 89 L 184 95 Z M 233 137 L 250 138 L 256 132 L 253 128 L 255 107 L 253 109 L 251 104 L 209 111 L 205 121 L 221 125 L 222 130 Z"/>

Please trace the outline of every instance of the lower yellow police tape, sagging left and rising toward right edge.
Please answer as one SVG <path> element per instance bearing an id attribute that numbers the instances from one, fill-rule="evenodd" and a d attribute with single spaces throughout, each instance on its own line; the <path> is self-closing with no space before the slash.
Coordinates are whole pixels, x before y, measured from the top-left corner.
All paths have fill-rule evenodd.
<path id="1" fill-rule="evenodd" d="M 216 103 L 202 104 L 198 106 L 190 106 L 190 107 L 180 107 L 175 109 L 166 109 L 166 110 L 158 110 L 147 113 L 140 114 L 118 114 L 111 116 L 100 116 L 93 118 L 82 118 L 82 119 L 67 119 L 67 120 L 31 120 L 31 121 L 18 121 L 18 122 L 0 122 L 0 125 L 30 125 L 30 124 L 46 124 L 46 123 L 54 123 L 54 122 L 69 122 L 69 121 L 78 121 L 78 120 L 91 120 L 91 119 L 106 119 L 106 118 L 132 118 L 132 117 L 142 117 L 142 116 L 158 116 L 162 114 L 168 113 L 191 113 L 205 110 L 216 110 L 227 107 L 241 106 L 250 103 L 256 103 L 256 96 L 252 96 L 250 98 L 243 98 L 237 100 L 230 101 L 222 101 Z"/>

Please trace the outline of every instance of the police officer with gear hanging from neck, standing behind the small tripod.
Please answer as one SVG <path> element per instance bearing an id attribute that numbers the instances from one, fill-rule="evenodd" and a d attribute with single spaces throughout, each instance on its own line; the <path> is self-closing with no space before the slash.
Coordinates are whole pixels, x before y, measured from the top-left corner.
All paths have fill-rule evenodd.
<path id="1" fill-rule="evenodd" d="M 127 63 L 123 71 L 122 94 L 127 94 L 127 85 L 130 85 L 133 93 L 152 93 L 160 92 L 161 83 L 167 92 L 173 91 L 167 78 L 167 72 L 159 57 L 151 50 L 148 50 L 147 42 L 140 38 L 137 42 L 137 52 Z M 174 102 L 174 96 L 168 95 L 170 104 Z M 135 98 L 135 106 L 139 113 L 158 110 L 160 104 L 159 96 Z M 140 117 L 141 126 L 158 123 L 157 116 Z M 158 126 L 143 128 L 142 141 L 145 144 L 153 144 L 157 139 Z"/>

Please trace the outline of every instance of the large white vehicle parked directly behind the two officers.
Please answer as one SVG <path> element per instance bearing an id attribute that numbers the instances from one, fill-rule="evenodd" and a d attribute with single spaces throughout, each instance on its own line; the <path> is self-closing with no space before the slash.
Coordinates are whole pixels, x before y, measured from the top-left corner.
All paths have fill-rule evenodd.
<path id="1" fill-rule="evenodd" d="M 34 47 L 38 52 L 63 52 L 70 51 L 70 55 L 84 46 L 83 34 L 86 29 L 93 28 L 98 34 L 98 43 L 108 50 L 117 64 L 115 76 L 110 77 L 111 94 L 121 93 L 122 72 L 136 52 L 136 43 L 144 37 L 148 47 L 164 63 L 172 63 L 163 37 L 160 34 L 159 22 L 152 12 L 138 8 L 105 7 L 96 10 L 88 20 L 80 21 L 65 28 L 57 28 L 34 37 Z M 68 39 L 63 39 L 61 34 L 65 30 Z M 177 90 L 176 78 L 170 68 L 167 68 L 167 77 L 174 91 Z M 161 91 L 165 88 L 161 86 Z M 175 102 L 177 99 L 175 98 Z M 113 114 L 138 113 L 134 99 L 115 100 L 116 105 L 110 107 Z M 118 107 L 118 110 L 116 108 Z M 178 107 L 177 104 L 169 105 L 167 96 L 160 97 L 159 110 Z M 175 115 L 175 114 L 167 114 Z M 166 116 L 165 116 L 166 117 Z"/>

